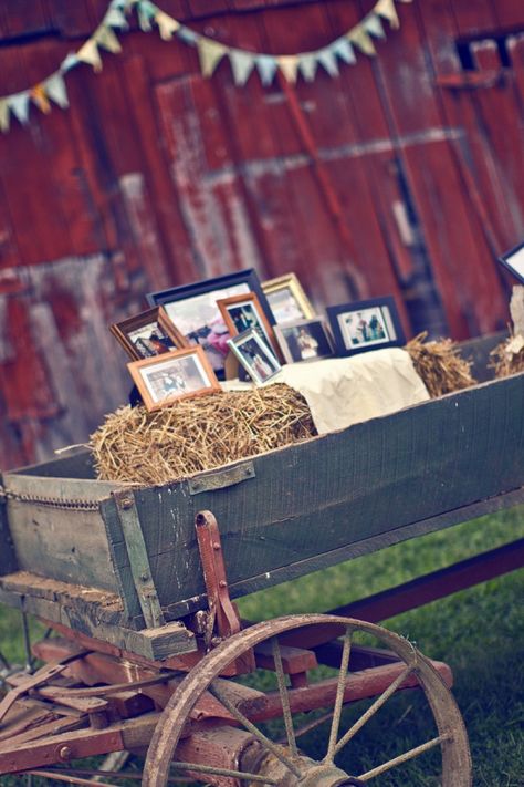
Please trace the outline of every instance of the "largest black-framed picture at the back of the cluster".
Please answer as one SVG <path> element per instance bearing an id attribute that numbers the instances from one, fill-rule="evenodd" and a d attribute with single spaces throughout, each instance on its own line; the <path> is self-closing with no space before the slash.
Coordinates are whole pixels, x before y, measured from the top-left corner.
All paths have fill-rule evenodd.
<path id="1" fill-rule="evenodd" d="M 262 292 L 256 271 L 253 269 L 172 287 L 169 290 L 149 292 L 146 298 L 149 306 L 165 308 L 168 318 L 186 336 L 189 344 L 199 344 L 203 348 L 214 373 L 219 380 L 223 380 L 230 334 L 217 301 L 233 296 L 248 296 L 250 292 L 259 297 L 269 324 L 273 324 L 273 314 Z"/>

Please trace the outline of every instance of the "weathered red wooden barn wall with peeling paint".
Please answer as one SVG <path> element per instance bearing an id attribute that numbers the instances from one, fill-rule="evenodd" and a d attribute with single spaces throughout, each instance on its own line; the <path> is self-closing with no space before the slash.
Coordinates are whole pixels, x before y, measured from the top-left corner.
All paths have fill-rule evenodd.
<path id="1" fill-rule="evenodd" d="M 161 0 L 256 51 L 317 49 L 371 0 Z M 0 2 L 0 92 L 36 83 L 105 0 Z M 210 11 L 211 9 L 211 11 Z M 71 106 L 0 138 L 0 467 L 85 441 L 125 402 L 107 324 L 144 293 L 254 266 L 321 309 L 392 293 L 406 329 L 504 327 L 524 236 L 522 0 L 398 4 L 379 56 L 311 84 L 201 77 L 156 33 L 66 76 Z"/>

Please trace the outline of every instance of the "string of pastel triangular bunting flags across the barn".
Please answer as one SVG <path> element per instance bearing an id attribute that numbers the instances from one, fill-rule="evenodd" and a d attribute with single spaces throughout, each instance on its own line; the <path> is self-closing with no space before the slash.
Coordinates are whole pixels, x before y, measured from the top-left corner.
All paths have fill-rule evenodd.
<path id="1" fill-rule="evenodd" d="M 369 56 L 376 55 L 374 40 L 386 38 L 384 20 L 389 22 L 391 29 L 398 29 L 400 22 L 395 3 L 411 1 L 378 0 L 358 24 L 322 49 L 297 54 L 266 54 L 228 46 L 197 33 L 161 11 L 151 0 L 111 0 L 102 22 L 91 38 L 76 52 L 70 52 L 54 73 L 32 87 L 0 97 L 0 131 L 9 131 L 11 117 L 27 125 L 32 104 L 44 114 L 51 112 L 53 104 L 62 110 L 67 108 L 65 74 L 82 63 L 87 63 L 94 71 L 99 72 L 103 51 L 113 54 L 122 52 L 117 33 L 129 29 L 127 17 L 133 10 L 136 11 L 138 24 L 144 32 L 151 32 L 157 28 L 164 41 L 170 41 L 176 35 L 184 43 L 197 48 L 203 76 L 212 76 L 219 63 L 227 58 L 237 85 L 244 85 L 254 70 L 258 71 L 262 84 L 270 85 L 277 71 L 289 82 L 296 82 L 298 75 L 306 82 L 312 82 L 319 66 L 329 76 L 337 76 L 339 61 L 353 65 L 357 61 L 358 52 Z"/>

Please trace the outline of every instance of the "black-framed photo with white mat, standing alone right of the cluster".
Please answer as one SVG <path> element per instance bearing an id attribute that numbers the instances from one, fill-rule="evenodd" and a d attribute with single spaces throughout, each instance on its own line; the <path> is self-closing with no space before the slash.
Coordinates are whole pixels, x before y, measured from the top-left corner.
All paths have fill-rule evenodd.
<path id="1" fill-rule="evenodd" d="M 406 344 L 391 297 L 327 307 L 337 355 L 353 355 Z"/>

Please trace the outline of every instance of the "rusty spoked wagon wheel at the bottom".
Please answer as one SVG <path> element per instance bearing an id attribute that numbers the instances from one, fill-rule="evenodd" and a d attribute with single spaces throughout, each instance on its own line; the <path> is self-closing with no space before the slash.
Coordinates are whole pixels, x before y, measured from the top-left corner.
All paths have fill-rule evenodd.
<path id="1" fill-rule="evenodd" d="M 281 644 L 285 634 L 301 629 L 311 634 L 314 629 L 322 627 L 331 631 L 332 638 L 343 635 L 340 666 L 328 702 L 316 704 L 315 707 L 329 705 L 331 731 L 327 752 L 322 759 L 312 759 L 304 756 L 298 749 L 297 737 L 301 731 L 294 729 L 293 706 L 295 695 L 301 691 L 287 688 L 282 666 Z M 348 701 L 346 680 L 349 677 L 348 664 L 354 635 L 361 632 L 373 635 L 388 650 L 392 651 L 405 667 L 398 671 L 397 677 L 379 694 L 377 700 L 367 711 L 352 724 L 349 729 L 340 729 L 340 713 L 344 703 Z M 328 638 L 323 636 L 325 642 Z M 239 659 L 251 648 L 270 641 L 274 659 L 274 667 L 279 686 L 279 703 L 284 718 L 286 744 L 271 741 L 264 732 L 253 724 L 224 696 L 220 681 L 216 679 L 234 660 Z M 310 638 L 311 641 L 311 638 Z M 318 639 L 317 639 L 318 641 Z M 406 682 L 416 681 L 428 701 L 432 712 L 437 735 L 415 748 L 401 752 L 387 762 L 374 766 L 371 769 L 358 767 L 358 760 L 352 759 L 352 770 L 348 774 L 335 765 L 335 758 L 346 747 L 356 733 L 375 715 L 388 701 L 394 692 Z M 412 684 L 412 683 L 411 683 Z M 349 684 L 347 684 L 349 685 Z M 238 723 L 252 736 L 252 745 L 248 747 L 245 756 L 241 756 L 238 769 L 222 772 L 206 764 L 174 763 L 172 757 L 179 744 L 180 736 L 189 719 L 191 710 L 199 697 L 208 691 L 218 698 L 227 710 L 235 716 Z M 325 717 L 325 716 L 324 716 Z M 310 725 L 311 726 L 311 725 Z M 234 731 L 233 731 L 234 732 Z M 355 746 L 355 744 L 354 744 Z M 411 643 L 398 634 L 387 631 L 381 627 L 350 618 L 335 615 L 308 614 L 280 618 L 273 621 L 258 623 L 244 631 L 234 634 L 222 642 L 216 650 L 208 653 L 202 661 L 193 667 L 184 682 L 176 690 L 166 706 L 148 749 L 144 770 L 143 787 L 165 787 L 169 776 L 172 778 L 172 768 L 178 773 L 190 773 L 193 778 L 209 781 L 214 785 L 277 785 L 280 787 L 342 787 L 343 785 L 364 785 L 373 781 L 381 774 L 392 768 L 400 768 L 407 760 L 423 755 L 429 749 L 440 749 L 440 781 L 442 787 L 471 787 L 471 759 L 468 737 L 458 706 L 439 673 Z M 352 747 L 353 750 L 353 747 Z M 357 755 L 358 756 L 358 755 Z M 354 768 L 353 768 L 354 766 Z M 400 776 L 401 778 L 401 776 Z M 223 780 L 221 780 L 223 779 Z M 400 783 L 399 783 L 400 784 Z"/>

